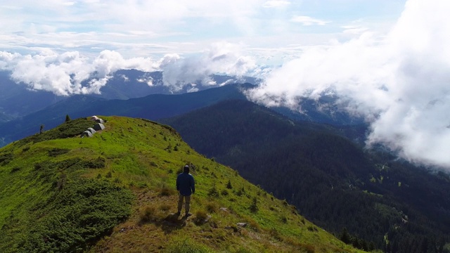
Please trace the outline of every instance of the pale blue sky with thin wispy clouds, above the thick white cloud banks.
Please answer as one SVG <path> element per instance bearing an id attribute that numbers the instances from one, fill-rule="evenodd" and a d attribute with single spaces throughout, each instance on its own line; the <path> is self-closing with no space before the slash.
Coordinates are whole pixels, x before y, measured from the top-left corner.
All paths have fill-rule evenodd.
<path id="1" fill-rule="evenodd" d="M 127 58 L 200 53 L 240 44 L 262 64 L 280 64 L 298 46 L 385 32 L 404 0 L 3 1 L 0 50 L 39 53 L 103 50 Z M 264 61 L 266 58 L 274 60 Z"/>

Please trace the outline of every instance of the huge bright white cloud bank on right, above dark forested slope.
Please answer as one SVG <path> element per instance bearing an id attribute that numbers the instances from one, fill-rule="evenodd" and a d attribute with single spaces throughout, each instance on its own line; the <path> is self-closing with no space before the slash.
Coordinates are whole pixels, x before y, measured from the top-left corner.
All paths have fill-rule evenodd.
<path id="1" fill-rule="evenodd" d="M 367 143 L 383 143 L 411 162 L 450 168 L 449 1 L 409 0 L 389 34 L 305 49 L 274 70 L 250 98 L 298 108 L 333 94 L 371 124 Z"/>

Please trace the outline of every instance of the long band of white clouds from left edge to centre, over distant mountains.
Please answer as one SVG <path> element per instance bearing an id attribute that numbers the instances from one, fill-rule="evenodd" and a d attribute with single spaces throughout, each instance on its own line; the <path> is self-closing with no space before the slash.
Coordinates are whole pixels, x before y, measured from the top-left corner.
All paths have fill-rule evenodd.
<path id="1" fill-rule="evenodd" d="M 0 51 L 0 70 L 10 71 L 13 81 L 59 96 L 100 93 L 117 70 L 162 71 L 163 84 L 179 91 L 198 81 L 203 85 L 213 84 L 212 74 L 243 76 L 255 67 L 255 61 L 243 55 L 239 45 L 225 42 L 212 44 L 200 54 L 186 57 L 167 54 L 160 60 L 124 59 L 120 53 L 108 50 L 101 51 L 94 59 L 77 51 L 58 54 L 48 49 L 36 55 Z"/>

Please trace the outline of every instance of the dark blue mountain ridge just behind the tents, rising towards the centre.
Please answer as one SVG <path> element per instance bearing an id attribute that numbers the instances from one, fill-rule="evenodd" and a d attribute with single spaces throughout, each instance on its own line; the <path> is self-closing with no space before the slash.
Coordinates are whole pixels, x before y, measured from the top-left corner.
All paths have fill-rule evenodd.
<path id="1" fill-rule="evenodd" d="M 20 119 L 0 124 L 3 145 L 38 132 L 43 124 L 48 129 L 58 126 L 66 115 L 77 118 L 84 115 L 120 115 L 158 120 L 162 117 L 180 115 L 189 110 L 211 105 L 227 98 L 245 99 L 240 89 L 251 84 L 232 84 L 201 93 L 180 95 L 153 94 L 129 100 L 107 100 L 93 96 L 76 95 L 50 105 L 45 110 L 34 112 Z M 0 143 L 1 144 L 1 143 Z"/>

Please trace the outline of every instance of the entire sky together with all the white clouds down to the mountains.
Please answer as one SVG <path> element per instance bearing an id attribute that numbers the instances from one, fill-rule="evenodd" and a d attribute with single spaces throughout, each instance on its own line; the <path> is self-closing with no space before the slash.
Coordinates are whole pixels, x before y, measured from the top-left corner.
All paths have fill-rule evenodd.
<path id="1" fill-rule="evenodd" d="M 64 96 L 120 69 L 161 70 L 174 91 L 252 75 L 258 103 L 337 96 L 371 124 L 368 145 L 450 168 L 447 13 L 447 0 L 2 1 L 0 70 Z"/>

